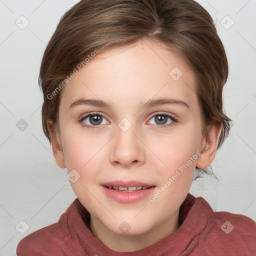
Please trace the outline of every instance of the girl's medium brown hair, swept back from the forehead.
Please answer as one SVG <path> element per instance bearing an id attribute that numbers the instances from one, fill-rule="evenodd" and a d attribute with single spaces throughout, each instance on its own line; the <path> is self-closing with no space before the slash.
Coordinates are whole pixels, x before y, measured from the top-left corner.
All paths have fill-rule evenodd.
<path id="1" fill-rule="evenodd" d="M 50 38 L 40 67 L 42 127 L 50 142 L 47 120 L 57 132 L 63 80 L 77 64 L 95 49 L 100 52 L 143 38 L 170 46 L 188 61 L 196 79 L 202 132 L 206 135 L 213 122 L 222 124 L 217 148 L 221 146 L 230 128 L 222 105 L 228 63 L 211 16 L 194 0 L 81 0 L 69 9 Z"/>

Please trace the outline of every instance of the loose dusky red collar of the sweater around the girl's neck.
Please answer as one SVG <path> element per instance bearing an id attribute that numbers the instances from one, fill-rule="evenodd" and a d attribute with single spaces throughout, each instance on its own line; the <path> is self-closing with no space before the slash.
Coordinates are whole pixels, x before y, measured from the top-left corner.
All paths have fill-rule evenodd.
<path id="1" fill-rule="evenodd" d="M 58 224 L 62 236 L 59 245 L 67 255 L 72 250 L 78 253 L 75 255 L 79 253 L 111 256 L 169 255 L 168 251 L 175 255 L 185 255 L 183 253 L 187 248 L 191 250 L 195 246 L 209 218 L 214 218 L 210 205 L 202 197 L 195 198 L 188 193 L 179 209 L 181 225 L 174 232 L 141 250 L 116 252 L 93 235 L 89 227 L 90 214 L 76 198 L 59 218 Z"/>

